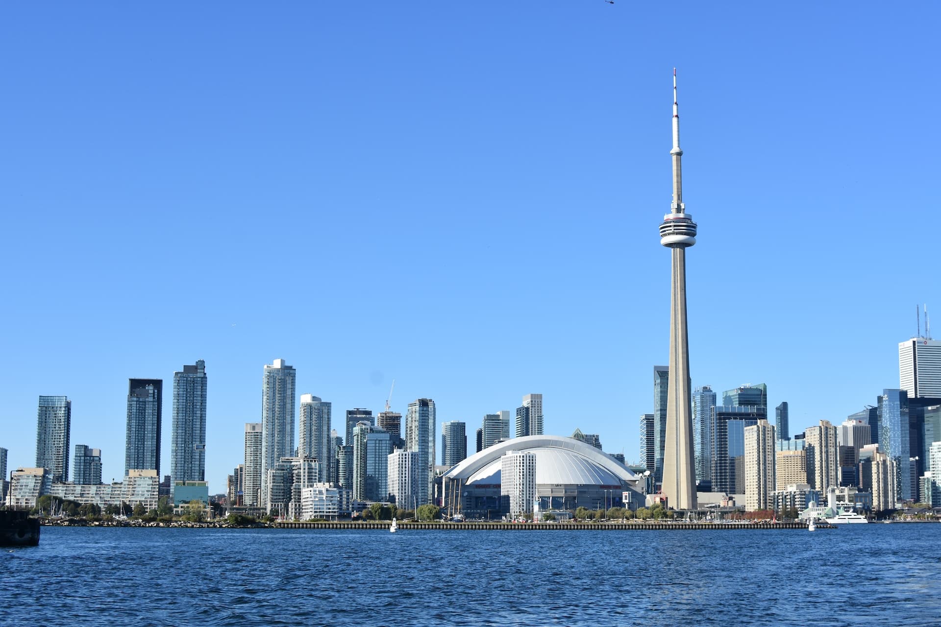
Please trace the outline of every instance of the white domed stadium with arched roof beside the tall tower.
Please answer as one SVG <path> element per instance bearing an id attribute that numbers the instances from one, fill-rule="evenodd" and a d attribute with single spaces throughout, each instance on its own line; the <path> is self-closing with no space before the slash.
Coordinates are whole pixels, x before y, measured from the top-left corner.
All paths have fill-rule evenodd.
<path id="1" fill-rule="evenodd" d="M 499 442 L 448 470 L 442 477 L 444 508 L 468 518 L 506 513 L 501 466 L 511 452 L 535 455 L 539 509 L 636 509 L 644 503 L 641 478 L 610 455 L 573 438 L 529 435 Z"/>

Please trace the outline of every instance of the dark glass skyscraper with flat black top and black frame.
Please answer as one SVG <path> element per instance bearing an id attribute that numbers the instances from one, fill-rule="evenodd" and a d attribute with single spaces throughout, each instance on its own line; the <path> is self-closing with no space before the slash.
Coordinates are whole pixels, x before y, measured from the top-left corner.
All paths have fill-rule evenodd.
<path id="1" fill-rule="evenodd" d="M 124 475 L 129 470 L 156 470 L 160 476 L 160 432 L 163 425 L 162 379 L 129 379 Z"/>

